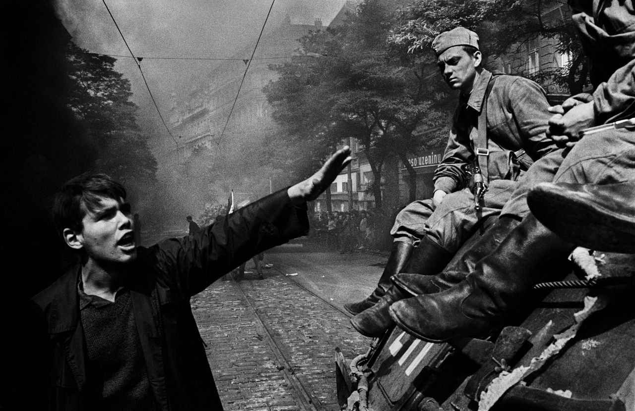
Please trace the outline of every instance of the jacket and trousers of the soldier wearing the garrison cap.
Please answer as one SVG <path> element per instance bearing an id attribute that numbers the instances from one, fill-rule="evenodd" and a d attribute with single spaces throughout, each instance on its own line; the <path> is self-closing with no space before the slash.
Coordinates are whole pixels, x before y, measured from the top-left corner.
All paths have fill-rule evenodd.
<path id="1" fill-rule="evenodd" d="M 492 74 L 483 70 L 467 100 L 460 100 L 453 116 L 448 145 L 434 173 L 434 189 L 448 193 L 439 207 L 432 199 L 417 200 L 399 212 L 391 235 L 395 241 L 418 241 L 427 235 L 447 251 L 455 252 L 469 238 L 474 226 L 488 216 L 500 214 L 511 199 L 518 181 L 535 160 L 557 150 L 545 136 L 549 103 L 535 82 L 515 75 L 497 75 L 487 101 L 488 191 L 481 210 L 474 208 L 474 195 L 462 166 L 475 155 L 478 115 L 485 101 Z M 517 158 L 518 157 L 518 158 Z M 532 166 L 531 168 L 535 168 Z M 532 185 L 545 181 L 542 173 L 531 174 Z"/>

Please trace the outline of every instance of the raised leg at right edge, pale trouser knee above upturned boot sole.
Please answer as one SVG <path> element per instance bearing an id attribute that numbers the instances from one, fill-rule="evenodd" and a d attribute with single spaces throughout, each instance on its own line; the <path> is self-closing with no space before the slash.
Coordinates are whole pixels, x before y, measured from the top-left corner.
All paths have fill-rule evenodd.
<path id="1" fill-rule="evenodd" d="M 587 136 L 554 183 L 531 194 L 531 211 L 561 237 L 601 251 L 635 252 L 635 131 Z"/>

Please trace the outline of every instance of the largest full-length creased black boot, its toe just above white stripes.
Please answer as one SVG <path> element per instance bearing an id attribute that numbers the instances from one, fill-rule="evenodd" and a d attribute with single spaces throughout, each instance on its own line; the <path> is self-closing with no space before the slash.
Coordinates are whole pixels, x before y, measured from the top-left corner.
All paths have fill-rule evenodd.
<path id="1" fill-rule="evenodd" d="M 465 280 L 436 294 L 397 301 L 390 315 L 401 329 L 425 341 L 486 336 L 545 268 L 572 249 L 530 214 Z"/>

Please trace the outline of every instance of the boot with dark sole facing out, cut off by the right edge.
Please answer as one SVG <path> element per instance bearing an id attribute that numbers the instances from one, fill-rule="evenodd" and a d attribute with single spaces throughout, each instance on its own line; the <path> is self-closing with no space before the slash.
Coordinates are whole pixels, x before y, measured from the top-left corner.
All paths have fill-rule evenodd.
<path id="1" fill-rule="evenodd" d="M 635 180 L 540 183 L 527 204 L 540 222 L 567 241 L 598 251 L 635 253 Z"/>

